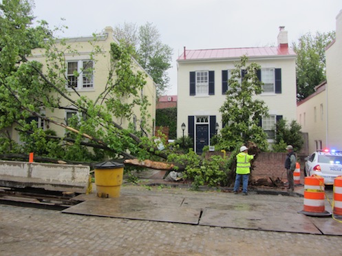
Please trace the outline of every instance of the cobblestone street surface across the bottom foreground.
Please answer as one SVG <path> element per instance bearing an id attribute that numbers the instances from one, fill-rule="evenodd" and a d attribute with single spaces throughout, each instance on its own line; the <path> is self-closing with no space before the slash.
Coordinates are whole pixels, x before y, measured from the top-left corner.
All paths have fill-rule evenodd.
<path id="1" fill-rule="evenodd" d="M 0 244 L 0 255 L 342 255 L 341 236 L 335 235 L 82 216 L 10 205 L 0 205 Z"/>

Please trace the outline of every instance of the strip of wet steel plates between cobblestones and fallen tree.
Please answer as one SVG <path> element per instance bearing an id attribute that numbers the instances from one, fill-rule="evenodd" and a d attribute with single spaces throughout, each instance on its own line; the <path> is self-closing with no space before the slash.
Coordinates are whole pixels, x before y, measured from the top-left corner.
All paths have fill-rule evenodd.
<path id="1" fill-rule="evenodd" d="M 294 192 L 272 189 L 271 197 L 267 195 L 269 190 L 260 188 L 253 189 L 248 196 L 235 195 L 231 190 L 151 191 L 148 188 L 152 187 L 123 186 L 118 198 L 99 198 L 94 193 L 78 196 L 77 199 L 84 202 L 62 212 L 235 229 L 342 235 L 342 224 L 333 218 L 315 220 L 317 217 L 298 213 L 303 210 L 303 186 L 297 186 Z M 332 198 L 331 190 L 326 194 Z M 325 211 L 332 211 L 328 200 Z"/>

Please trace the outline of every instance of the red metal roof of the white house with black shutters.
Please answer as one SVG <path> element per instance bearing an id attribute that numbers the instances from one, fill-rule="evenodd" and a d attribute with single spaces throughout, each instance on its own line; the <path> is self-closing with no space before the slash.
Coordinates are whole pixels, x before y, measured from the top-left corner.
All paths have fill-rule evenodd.
<path id="1" fill-rule="evenodd" d="M 215 58 L 240 58 L 246 55 L 249 58 L 270 56 L 295 56 L 295 51 L 287 46 L 280 47 L 246 47 L 246 48 L 223 48 L 223 49 L 196 49 L 185 50 L 178 60 L 200 60 Z M 184 58 L 185 57 L 185 58 Z"/>

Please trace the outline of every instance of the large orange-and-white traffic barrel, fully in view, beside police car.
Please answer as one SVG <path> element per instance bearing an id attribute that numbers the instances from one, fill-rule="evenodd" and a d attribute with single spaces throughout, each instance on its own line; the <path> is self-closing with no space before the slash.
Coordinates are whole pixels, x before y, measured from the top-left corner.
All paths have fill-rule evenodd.
<path id="1" fill-rule="evenodd" d="M 331 216 L 325 211 L 324 206 L 324 178 L 320 176 L 309 176 L 304 178 L 304 207 L 303 213 L 306 216 Z"/>

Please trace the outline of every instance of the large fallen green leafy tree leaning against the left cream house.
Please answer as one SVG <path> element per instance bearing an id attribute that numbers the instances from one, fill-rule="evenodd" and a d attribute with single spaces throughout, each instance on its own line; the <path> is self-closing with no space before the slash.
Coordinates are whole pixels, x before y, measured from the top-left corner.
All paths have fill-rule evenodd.
<path id="1" fill-rule="evenodd" d="M 4 0 L 0 12 L 1 153 L 34 151 L 52 159 L 73 161 L 95 161 L 105 156 L 167 159 L 167 154 L 158 150 L 158 144 L 146 136 L 152 128 L 146 122 L 149 102 L 141 95 L 146 74 L 136 69 L 131 47 L 111 44 L 105 89 L 95 100 L 90 99 L 72 86 L 72 92 L 67 90 L 66 84 L 70 81 L 65 75 L 65 55 L 77 56 L 78 52 L 66 40 L 54 38 L 58 28 L 50 30 L 45 21 L 33 26 L 31 5 L 26 0 Z M 103 54 L 96 42 L 94 35 L 94 40 L 89 42 L 93 49 L 89 58 L 94 63 Z M 41 49 L 44 64 L 30 60 L 34 49 Z M 74 72 L 74 76 L 86 76 L 93 69 L 84 67 L 81 73 Z M 140 111 L 138 131 L 133 129 L 134 108 Z M 67 123 L 44 114 L 68 109 L 76 110 L 79 115 Z M 38 128 L 39 124 L 32 121 L 34 118 L 65 128 L 65 137 L 56 136 L 54 130 Z M 123 128 L 120 122 L 114 121 L 120 119 L 130 120 L 131 125 Z M 14 143 L 12 128 L 20 132 L 20 139 L 25 143 Z M 87 150 L 89 147 L 93 152 Z"/>

